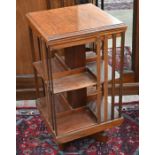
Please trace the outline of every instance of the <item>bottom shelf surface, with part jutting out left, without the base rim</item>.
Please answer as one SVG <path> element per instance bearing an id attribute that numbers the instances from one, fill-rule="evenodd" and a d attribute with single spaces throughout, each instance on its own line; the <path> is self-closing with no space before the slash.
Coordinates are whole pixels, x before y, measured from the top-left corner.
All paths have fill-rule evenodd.
<path id="1" fill-rule="evenodd" d="M 56 111 L 62 106 L 62 103 L 56 103 Z M 41 98 L 37 102 L 37 107 L 42 114 L 44 120 L 52 129 L 51 122 L 48 121 L 48 109 L 45 104 L 45 98 Z M 66 108 L 66 107 L 65 107 Z M 88 107 L 80 107 L 76 109 L 68 109 L 58 112 L 57 115 L 57 130 L 58 136 L 64 135 L 69 132 L 77 131 L 81 128 L 89 127 L 96 124 L 95 115 L 89 110 Z"/>

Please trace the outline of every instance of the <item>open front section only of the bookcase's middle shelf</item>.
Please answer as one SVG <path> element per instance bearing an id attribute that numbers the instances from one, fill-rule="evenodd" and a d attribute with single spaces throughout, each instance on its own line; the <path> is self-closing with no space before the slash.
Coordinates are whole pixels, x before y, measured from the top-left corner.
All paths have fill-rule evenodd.
<path id="1" fill-rule="evenodd" d="M 86 69 L 74 69 L 60 74 L 53 80 L 54 94 L 96 85 L 96 78 Z"/>

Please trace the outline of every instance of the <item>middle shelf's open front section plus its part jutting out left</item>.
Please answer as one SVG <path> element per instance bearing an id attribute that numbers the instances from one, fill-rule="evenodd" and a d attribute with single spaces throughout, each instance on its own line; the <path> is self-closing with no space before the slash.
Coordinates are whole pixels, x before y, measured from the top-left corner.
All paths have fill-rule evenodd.
<path id="1" fill-rule="evenodd" d="M 42 62 L 34 62 L 33 65 L 46 83 L 47 79 L 45 78 Z M 96 84 L 96 78 L 85 68 L 55 73 L 53 74 L 53 78 L 54 94 L 77 90 Z"/>

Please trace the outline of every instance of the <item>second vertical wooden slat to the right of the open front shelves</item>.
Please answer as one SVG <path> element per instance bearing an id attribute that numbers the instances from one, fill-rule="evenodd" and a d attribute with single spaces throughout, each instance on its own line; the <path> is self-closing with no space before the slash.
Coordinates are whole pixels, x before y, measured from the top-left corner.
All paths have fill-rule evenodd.
<path id="1" fill-rule="evenodd" d="M 108 113 L 108 36 L 104 36 L 104 121 Z"/>

